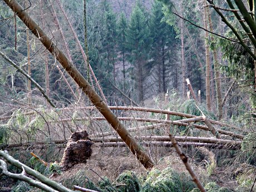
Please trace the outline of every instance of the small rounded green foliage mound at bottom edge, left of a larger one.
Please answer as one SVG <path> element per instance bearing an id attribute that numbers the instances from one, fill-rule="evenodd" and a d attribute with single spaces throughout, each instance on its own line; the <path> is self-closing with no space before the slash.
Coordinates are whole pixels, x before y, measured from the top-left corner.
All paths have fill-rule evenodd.
<path id="1" fill-rule="evenodd" d="M 139 179 L 132 171 L 125 171 L 119 175 L 114 184 L 122 192 L 139 192 L 141 188 Z"/>

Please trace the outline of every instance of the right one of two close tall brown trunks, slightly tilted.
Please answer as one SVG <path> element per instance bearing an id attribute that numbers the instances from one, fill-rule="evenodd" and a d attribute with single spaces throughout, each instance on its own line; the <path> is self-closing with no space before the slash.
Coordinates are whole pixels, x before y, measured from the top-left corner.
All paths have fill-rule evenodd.
<path id="1" fill-rule="evenodd" d="M 213 22 L 211 21 L 211 14 L 209 12 L 209 8 L 207 7 L 208 12 L 208 22 L 210 31 L 213 32 Z M 211 41 L 214 41 L 214 37 L 210 36 Z M 222 99 L 221 99 L 221 85 L 220 85 L 220 72 L 218 70 L 219 61 L 218 61 L 218 53 L 216 48 L 213 50 L 213 60 L 214 60 L 214 72 L 215 72 L 215 85 L 216 85 L 216 97 L 217 97 L 217 106 L 218 106 L 218 119 L 222 119 Z"/>

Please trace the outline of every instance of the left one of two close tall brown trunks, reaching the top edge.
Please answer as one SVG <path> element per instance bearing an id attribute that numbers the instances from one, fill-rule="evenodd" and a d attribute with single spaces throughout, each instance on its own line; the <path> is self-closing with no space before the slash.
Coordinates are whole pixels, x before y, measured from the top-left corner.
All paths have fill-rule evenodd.
<path id="1" fill-rule="evenodd" d="M 207 24 L 207 17 L 206 17 L 206 0 L 204 1 L 204 28 L 208 29 L 208 24 Z M 210 50 L 209 50 L 209 45 L 208 45 L 208 37 L 209 33 L 207 31 L 204 31 L 204 38 L 205 38 L 205 63 L 206 63 L 206 68 L 205 68 L 205 85 L 206 85 L 206 106 L 207 109 L 210 111 L 211 110 L 211 98 L 210 98 Z"/>

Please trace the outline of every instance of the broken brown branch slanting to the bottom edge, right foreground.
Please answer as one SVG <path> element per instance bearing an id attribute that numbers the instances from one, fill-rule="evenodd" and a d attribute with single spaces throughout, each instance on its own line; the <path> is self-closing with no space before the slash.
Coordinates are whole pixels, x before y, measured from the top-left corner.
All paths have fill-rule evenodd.
<path id="1" fill-rule="evenodd" d="M 201 184 L 200 180 L 198 179 L 198 176 L 196 176 L 195 172 L 191 168 L 191 166 L 188 162 L 188 157 L 186 157 L 186 155 L 181 151 L 181 149 L 180 149 L 179 145 L 177 144 L 174 136 L 171 135 L 171 134 L 169 136 L 170 136 L 170 139 L 171 139 L 171 143 L 175 147 L 175 150 L 178 153 L 178 155 L 180 156 L 180 159 L 183 161 L 183 163 L 186 167 L 186 170 L 189 171 L 189 174 L 191 175 L 192 180 L 198 186 L 198 188 L 200 189 L 201 192 L 206 192 L 206 190 L 204 189 L 203 184 Z"/>

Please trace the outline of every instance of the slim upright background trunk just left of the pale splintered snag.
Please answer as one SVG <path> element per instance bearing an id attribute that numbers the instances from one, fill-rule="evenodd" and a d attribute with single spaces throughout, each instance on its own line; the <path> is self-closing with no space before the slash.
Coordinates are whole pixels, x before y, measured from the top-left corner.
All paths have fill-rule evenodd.
<path id="1" fill-rule="evenodd" d="M 181 7 L 181 13 L 183 9 Z M 183 99 L 186 99 L 186 66 L 185 66 L 185 47 L 184 47 L 184 22 L 181 21 L 181 62 L 182 62 L 182 80 L 183 80 Z"/>

